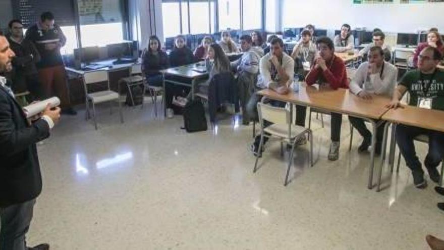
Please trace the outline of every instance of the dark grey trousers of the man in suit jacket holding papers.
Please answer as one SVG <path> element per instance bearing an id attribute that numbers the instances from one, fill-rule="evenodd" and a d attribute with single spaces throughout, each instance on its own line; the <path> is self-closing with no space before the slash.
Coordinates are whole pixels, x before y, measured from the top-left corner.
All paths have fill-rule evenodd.
<path id="1" fill-rule="evenodd" d="M 0 249 L 27 250 L 26 233 L 31 224 L 35 199 L 0 208 Z"/>

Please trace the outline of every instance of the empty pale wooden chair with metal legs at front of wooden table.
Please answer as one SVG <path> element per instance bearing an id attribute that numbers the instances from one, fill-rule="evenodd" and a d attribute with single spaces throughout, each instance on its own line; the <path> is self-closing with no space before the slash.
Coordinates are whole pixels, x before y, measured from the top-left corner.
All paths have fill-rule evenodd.
<path id="1" fill-rule="evenodd" d="M 292 107 L 292 106 L 291 106 Z M 283 142 L 292 145 L 291 153 L 289 156 L 289 163 L 287 167 L 287 173 L 285 175 L 284 186 L 289 183 L 288 178 L 290 174 L 290 168 L 293 163 L 293 153 L 298 139 L 307 134 L 310 138 L 310 154 L 309 162 L 310 166 L 313 166 L 313 136 L 311 130 L 302 126 L 292 124 L 292 109 L 287 110 L 285 108 L 272 107 L 267 104 L 258 103 L 257 113 L 259 116 L 260 124 L 260 143 L 257 152 L 262 152 L 264 137 L 277 137 L 281 140 L 281 155 L 283 155 Z M 264 127 L 264 122 L 271 122 L 272 124 Z M 259 161 L 260 153 L 256 154 L 256 161 L 254 163 L 253 173 L 257 171 L 257 164 Z"/>

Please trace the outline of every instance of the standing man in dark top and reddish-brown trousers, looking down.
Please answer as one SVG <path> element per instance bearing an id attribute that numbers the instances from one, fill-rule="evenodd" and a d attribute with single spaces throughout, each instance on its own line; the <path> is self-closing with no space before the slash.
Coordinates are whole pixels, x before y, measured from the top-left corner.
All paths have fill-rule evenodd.
<path id="1" fill-rule="evenodd" d="M 65 64 L 60 54 L 66 37 L 59 25 L 54 24 L 54 15 L 50 12 L 41 14 L 40 20 L 26 30 L 25 38 L 32 41 L 40 53 L 37 68 L 43 92 L 46 96 L 52 96 L 52 92 L 55 92 L 60 98 L 63 113 L 76 115 L 77 112 L 71 107 Z"/>

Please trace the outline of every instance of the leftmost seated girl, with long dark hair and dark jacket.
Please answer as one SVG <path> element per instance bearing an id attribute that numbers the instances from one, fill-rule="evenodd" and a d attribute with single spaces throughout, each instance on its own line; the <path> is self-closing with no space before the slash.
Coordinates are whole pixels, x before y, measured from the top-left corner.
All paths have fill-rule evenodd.
<path id="1" fill-rule="evenodd" d="M 163 52 L 157 36 L 149 37 L 148 49 L 142 55 L 142 72 L 151 86 L 162 86 L 163 76 L 159 70 L 168 68 L 168 55 Z"/>

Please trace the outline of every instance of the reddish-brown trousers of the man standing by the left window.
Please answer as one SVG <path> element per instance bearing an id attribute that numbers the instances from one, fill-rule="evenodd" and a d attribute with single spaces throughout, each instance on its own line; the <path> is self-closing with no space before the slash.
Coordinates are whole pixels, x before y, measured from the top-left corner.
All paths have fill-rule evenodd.
<path id="1" fill-rule="evenodd" d="M 55 93 L 60 98 L 62 109 L 71 107 L 64 65 L 39 69 L 38 77 L 45 97 Z"/>

